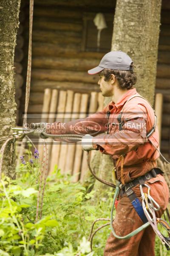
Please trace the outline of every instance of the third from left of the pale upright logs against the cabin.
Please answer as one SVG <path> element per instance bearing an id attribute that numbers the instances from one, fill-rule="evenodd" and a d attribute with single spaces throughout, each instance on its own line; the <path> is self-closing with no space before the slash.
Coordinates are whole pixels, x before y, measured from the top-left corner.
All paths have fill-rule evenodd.
<path id="1" fill-rule="evenodd" d="M 59 92 L 59 104 L 57 108 L 57 122 L 62 122 L 65 112 L 65 103 L 66 103 L 67 92 L 60 91 Z M 54 142 L 51 149 L 51 161 L 50 161 L 50 168 L 49 173 L 51 174 L 54 171 L 55 165 L 59 163 L 59 151 L 60 151 L 60 144 L 59 142 Z"/>

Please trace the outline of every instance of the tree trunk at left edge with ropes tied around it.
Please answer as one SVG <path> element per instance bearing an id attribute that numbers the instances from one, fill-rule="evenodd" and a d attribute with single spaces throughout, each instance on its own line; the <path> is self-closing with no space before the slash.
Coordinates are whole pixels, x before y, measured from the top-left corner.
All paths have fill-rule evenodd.
<path id="1" fill-rule="evenodd" d="M 20 0 L 0 2 L 0 147 L 15 125 L 14 48 L 16 44 Z M 4 140 L 3 140 L 4 138 Z M 9 167 L 10 166 L 10 167 Z M 14 177 L 14 143 L 8 143 L 3 157 L 3 172 Z"/>

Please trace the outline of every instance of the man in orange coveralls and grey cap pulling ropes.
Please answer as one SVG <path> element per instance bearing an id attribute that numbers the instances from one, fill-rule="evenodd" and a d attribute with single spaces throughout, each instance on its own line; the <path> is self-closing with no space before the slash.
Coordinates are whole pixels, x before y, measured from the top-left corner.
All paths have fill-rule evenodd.
<path id="1" fill-rule="evenodd" d="M 116 177 L 121 181 L 122 188 L 129 189 L 129 184 L 133 184 L 133 195 L 140 201 L 139 183 L 136 185 L 134 180 L 142 177 L 150 186 L 150 195 L 160 206 L 160 210 L 156 212 L 156 216 L 160 218 L 167 208 L 169 189 L 161 171 L 156 169 L 159 152 L 155 147 L 159 147 L 159 134 L 154 127 L 154 111 L 150 103 L 133 88 L 136 83 L 133 61 L 125 52 L 112 51 L 102 58 L 98 67 L 88 73 L 99 74 L 98 84 L 102 95 L 111 96 L 112 101 L 102 111 L 85 119 L 71 121 L 64 126 L 59 126 L 57 122 L 47 124 L 46 132 L 63 134 L 64 131 L 66 134 L 75 134 L 74 125 L 81 127 L 83 124 L 86 129 L 82 129 L 82 134 L 96 136 L 85 135 L 82 148 L 96 149 L 102 154 L 111 155 L 116 166 Z M 94 125 L 96 122 L 99 124 L 97 130 Z M 126 189 L 120 192 L 113 221 L 118 236 L 125 236 L 143 224 L 142 217 L 125 192 Z M 147 192 L 146 187 L 144 192 Z M 154 256 L 154 243 L 155 233 L 150 226 L 130 239 L 116 239 L 111 234 L 104 256 Z"/>

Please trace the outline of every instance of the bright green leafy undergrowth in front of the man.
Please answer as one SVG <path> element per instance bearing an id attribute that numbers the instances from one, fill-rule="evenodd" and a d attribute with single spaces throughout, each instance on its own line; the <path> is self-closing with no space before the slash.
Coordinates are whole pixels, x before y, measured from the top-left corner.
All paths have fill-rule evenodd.
<path id="1" fill-rule="evenodd" d="M 102 256 L 110 227 L 88 236 L 96 218 L 109 218 L 113 191 L 94 195 L 72 177 L 56 168 L 48 177 L 42 219 L 35 223 L 40 165 L 37 152 L 21 157 L 17 179 L 3 177 L 0 183 L 0 255 L 2 256 Z M 30 161 L 31 159 L 31 161 Z M 96 224 L 96 228 L 105 221 Z M 156 256 L 170 255 L 156 239 Z"/>

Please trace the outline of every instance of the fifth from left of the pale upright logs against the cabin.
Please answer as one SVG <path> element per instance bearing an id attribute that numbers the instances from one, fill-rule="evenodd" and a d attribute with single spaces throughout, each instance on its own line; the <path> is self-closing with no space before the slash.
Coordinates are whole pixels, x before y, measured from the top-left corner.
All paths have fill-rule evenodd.
<path id="1" fill-rule="evenodd" d="M 79 118 L 81 94 L 74 94 L 73 112 L 71 114 L 71 120 Z M 71 174 L 73 172 L 74 156 L 75 156 L 76 144 L 68 144 L 68 153 L 65 164 L 65 173 Z"/>

